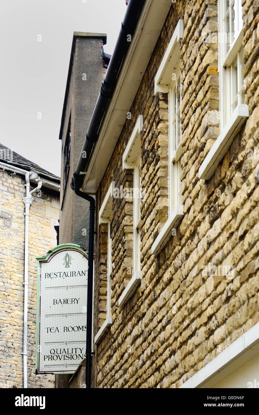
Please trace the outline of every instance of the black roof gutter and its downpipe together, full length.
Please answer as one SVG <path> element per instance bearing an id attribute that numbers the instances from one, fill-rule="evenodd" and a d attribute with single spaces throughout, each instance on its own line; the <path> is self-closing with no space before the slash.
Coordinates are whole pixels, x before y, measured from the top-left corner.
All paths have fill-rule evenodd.
<path id="1" fill-rule="evenodd" d="M 84 198 L 90 202 L 89 210 L 89 251 L 88 251 L 88 283 L 87 283 L 87 317 L 86 317 L 86 388 L 91 388 L 91 340 L 92 340 L 92 297 L 93 297 L 93 265 L 94 265 L 94 214 L 95 214 L 95 200 L 93 197 L 80 191 L 84 175 L 81 171 L 86 171 L 90 160 L 94 144 L 99 137 L 99 131 L 104 119 L 106 109 L 109 101 L 113 96 L 116 88 L 118 74 L 124 60 L 124 56 L 128 50 L 130 41 L 128 35 L 133 35 L 136 30 L 138 17 L 141 12 L 145 0 L 130 0 L 128 2 L 127 11 L 121 24 L 121 30 L 116 42 L 115 49 L 109 61 L 109 66 L 103 83 L 101 84 L 101 91 L 94 107 L 94 112 L 84 139 L 83 148 L 79 157 L 76 170 L 72 177 L 71 187 L 74 189 L 76 195 Z M 85 157 L 86 154 L 86 157 Z"/>

